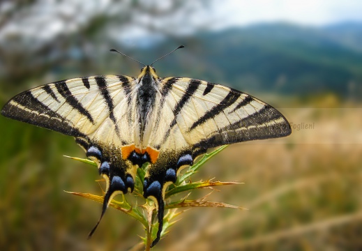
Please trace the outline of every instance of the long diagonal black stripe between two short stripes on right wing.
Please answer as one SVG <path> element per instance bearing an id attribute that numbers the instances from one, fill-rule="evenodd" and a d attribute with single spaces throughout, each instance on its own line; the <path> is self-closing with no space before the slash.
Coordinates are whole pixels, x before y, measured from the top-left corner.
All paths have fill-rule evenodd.
<path id="1" fill-rule="evenodd" d="M 227 107 L 234 104 L 234 102 L 236 102 L 236 100 L 238 100 L 240 95 L 241 95 L 241 93 L 230 90 L 229 93 L 227 93 L 227 96 L 223 100 L 221 100 L 221 102 L 218 103 L 218 105 L 212 107 L 202 117 L 197 119 L 197 121 L 195 121 L 193 123 L 193 125 L 190 126 L 190 128 L 188 129 L 188 132 L 190 132 L 191 130 L 193 130 L 197 126 L 202 125 L 203 123 L 205 123 L 209 119 L 215 118 L 218 114 L 223 112 Z"/>

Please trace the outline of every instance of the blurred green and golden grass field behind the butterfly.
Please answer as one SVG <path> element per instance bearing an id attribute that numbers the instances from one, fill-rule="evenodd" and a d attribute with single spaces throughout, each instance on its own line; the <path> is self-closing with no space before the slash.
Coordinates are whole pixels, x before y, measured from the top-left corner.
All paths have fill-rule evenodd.
<path id="1" fill-rule="evenodd" d="M 324 100 L 330 102 L 331 97 Z M 214 191 L 208 199 L 248 210 L 191 208 L 181 214 L 182 220 L 156 250 L 361 248 L 362 146 L 317 143 L 319 137 L 323 142 L 338 133 L 356 134 L 342 127 L 348 121 L 360 128 L 361 113 L 356 110 L 361 111 L 344 109 L 342 116 L 335 112 L 316 116 L 314 109 L 296 109 L 292 114 L 286 109 L 289 121 L 309 118 L 315 128 L 227 147 L 193 180 L 244 182 Z M 337 130 L 321 134 L 317 128 L 326 122 Z M 95 182 L 96 169 L 63 158 L 84 156 L 71 137 L 3 117 L 0 126 L 1 141 L 6 142 L 0 152 L 2 250 L 132 250 L 143 229 L 114 209 L 107 212 L 93 238 L 86 240 L 98 220 L 100 204 L 63 191 L 100 195 L 101 190 Z M 301 139 L 308 137 L 314 142 L 303 143 Z M 202 190 L 199 195 L 209 192 Z"/>

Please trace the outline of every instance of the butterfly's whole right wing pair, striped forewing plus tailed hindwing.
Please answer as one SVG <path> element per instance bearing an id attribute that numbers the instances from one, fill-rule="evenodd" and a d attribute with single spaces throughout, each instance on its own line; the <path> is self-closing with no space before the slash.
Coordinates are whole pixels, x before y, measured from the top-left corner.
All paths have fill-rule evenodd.
<path id="1" fill-rule="evenodd" d="M 180 169 L 193 165 L 197 155 L 207 149 L 292 132 L 278 110 L 226 86 L 175 77 L 162 79 L 160 86 L 150 140 L 160 155 L 150 165 L 144 185 L 144 195 L 155 197 L 159 207 L 164 206 L 165 184 L 176 181 Z M 158 213 L 161 225 L 160 208 Z"/>

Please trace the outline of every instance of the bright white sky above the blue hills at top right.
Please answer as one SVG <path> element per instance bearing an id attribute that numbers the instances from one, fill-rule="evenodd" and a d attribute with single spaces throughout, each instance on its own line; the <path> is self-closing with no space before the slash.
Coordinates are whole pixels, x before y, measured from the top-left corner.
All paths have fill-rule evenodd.
<path id="1" fill-rule="evenodd" d="M 216 1 L 218 26 L 248 25 L 260 22 L 292 22 L 323 26 L 337 22 L 362 22 L 361 0 L 254 0 Z"/>

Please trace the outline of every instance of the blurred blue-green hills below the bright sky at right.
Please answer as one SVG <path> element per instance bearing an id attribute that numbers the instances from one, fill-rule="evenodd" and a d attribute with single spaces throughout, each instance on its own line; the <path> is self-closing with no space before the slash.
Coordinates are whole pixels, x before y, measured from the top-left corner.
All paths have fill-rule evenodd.
<path id="1" fill-rule="evenodd" d="M 157 63 L 163 73 L 229 84 L 243 91 L 308 96 L 362 94 L 362 24 L 322 28 L 259 24 L 204 31 L 179 39 L 188 48 Z M 146 48 L 153 59 L 175 44 L 163 40 Z M 163 74 L 164 75 L 164 74 Z"/>

